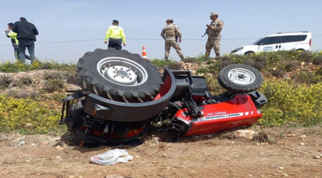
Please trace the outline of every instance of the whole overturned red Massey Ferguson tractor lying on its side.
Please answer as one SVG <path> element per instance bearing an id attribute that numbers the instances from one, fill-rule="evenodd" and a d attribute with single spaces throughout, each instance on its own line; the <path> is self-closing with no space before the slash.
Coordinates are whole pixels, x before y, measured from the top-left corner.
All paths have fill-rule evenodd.
<path id="1" fill-rule="evenodd" d="M 139 142 L 151 125 L 174 138 L 250 126 L 268 102 L 256 91 L 263 84 L 261 73 L 242 64 L 220 71 L 218 82 L 227 91 L 219 96 L 208 92 L 204 77 L 167 67 L 161 75 L 149 60 L 126 50 L 87 52 L 76 72 L 82 90 L 61 100 L 60 123 L 80 146 Z"/>

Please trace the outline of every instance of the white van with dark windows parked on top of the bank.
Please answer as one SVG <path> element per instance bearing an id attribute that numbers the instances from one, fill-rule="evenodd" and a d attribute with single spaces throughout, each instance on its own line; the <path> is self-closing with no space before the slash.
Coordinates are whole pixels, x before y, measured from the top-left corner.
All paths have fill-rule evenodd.
<path id="1" fill-rule="evenodd" d="M 263 37 L 253 43 L 237 47 L 231 51 L 236 55 L 250 55 L 255 52 L 270 52 L 279 50 L 311 51 L 312 34 L 310 32 L 277 33 Z"/>

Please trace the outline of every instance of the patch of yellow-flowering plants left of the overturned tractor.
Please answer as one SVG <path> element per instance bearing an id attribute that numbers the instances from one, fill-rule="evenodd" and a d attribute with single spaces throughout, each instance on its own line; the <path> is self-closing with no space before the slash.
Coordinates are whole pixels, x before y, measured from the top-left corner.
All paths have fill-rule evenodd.
<path id="1" fill-rule="evenodd" d="M 1 132 L 18 131 L 22 134 L 47 134 L 61 128 L 57 124 L 59 111 L 31 99 L 17 99 L 0 95 Z"/>

